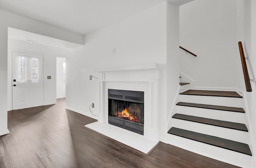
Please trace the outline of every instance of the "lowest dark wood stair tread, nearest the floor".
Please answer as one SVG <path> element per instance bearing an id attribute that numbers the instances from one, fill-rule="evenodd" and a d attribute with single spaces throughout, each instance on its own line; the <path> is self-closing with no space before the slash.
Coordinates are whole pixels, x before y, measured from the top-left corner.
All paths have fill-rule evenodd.
<path id="1" fill-rule="evenodd" d="M 248 144 L 244 144 L 241 142 L 236 142 L 233 140 L 228 140 L 228 139 L 219 138 L 216 136 L 201 134 L 198 132 L 193 132 L 193 131 L 175 128 L 175 127 L 170 128 L 170 130 L 168 130 L 168 133 L 176 135 L 176 136 L 180 136 L 183 138 L 188 138 L 190 140 L 195 140 L 195 141 L 202 142 L 205 144 L 218 146 L 220 148 L 224 148 L 224 149 L 228 149 L 228 150 L 232 150 L 235 152 L 239 152 L 242 154 L 247 154 L 247 155 L 252 156 L 252 152 L 251 152 Z"/>

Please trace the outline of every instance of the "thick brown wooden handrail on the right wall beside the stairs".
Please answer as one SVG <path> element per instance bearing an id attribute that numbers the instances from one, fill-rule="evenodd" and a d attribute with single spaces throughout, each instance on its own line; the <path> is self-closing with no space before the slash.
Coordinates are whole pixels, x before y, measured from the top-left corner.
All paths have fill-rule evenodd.
<path id="1" fill-rule="evenodd" d="M 239 46 L 240 57 L 241 57 L 241 61 L 242 61 L 242 68 L 243 68 L 243 72 L 244 72 L 244 82 L 245 82 L 246 91 L 251 92 L 252 87 L 251 87 L 248 69 L 247 69 L 247 65 L 246 65 L 246 61 L 245 61 L 245 57 L 244 57 L 244 50 L 243 50 L 242 42 L 238 42 L 238 46 Z"/>

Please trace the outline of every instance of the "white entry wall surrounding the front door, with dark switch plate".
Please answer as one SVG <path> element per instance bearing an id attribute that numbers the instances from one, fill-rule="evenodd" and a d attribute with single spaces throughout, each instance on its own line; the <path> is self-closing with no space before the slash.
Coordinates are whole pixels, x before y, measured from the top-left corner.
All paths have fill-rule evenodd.
<path id="1" fill-rule="evenodd" d="M 8 38 L 8 110 L 12 110 L 12 51 L 44 55 L 44 105 L 56 103 L 56 55 L 68 57 L 71 49 Z M 64 58 L 65 59 L 65 58 Z M 51 79 L 47 79 L 51 76 Z"/>

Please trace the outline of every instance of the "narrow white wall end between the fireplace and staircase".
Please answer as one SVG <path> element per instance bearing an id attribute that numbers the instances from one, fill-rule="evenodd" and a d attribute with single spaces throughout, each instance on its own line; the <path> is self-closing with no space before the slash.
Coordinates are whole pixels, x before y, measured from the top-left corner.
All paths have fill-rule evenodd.
<path id="1" fill-rule="evenodd" d="M 167 3 L 167 85 L 166 85 L 166 114 L 160 122 L 166 121 L 166 125 L 161 126 L 162 134 L 166 134 L 170 129 L 168 121 L 175 111 L 176 95 L 179 90 L 179 6 Z M 167 125 L 169 124 L 169 125 Z M 163 129 L 166 128 L 166 129 Z"/>

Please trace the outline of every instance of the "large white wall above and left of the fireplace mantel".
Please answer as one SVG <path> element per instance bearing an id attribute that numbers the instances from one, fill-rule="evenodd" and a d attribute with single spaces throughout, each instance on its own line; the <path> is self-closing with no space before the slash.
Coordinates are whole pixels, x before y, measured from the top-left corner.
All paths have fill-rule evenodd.
<path id="1" fill-rule="evenodd" d="M 66 59 L 66 107 L 90 115 L 88 107 L 95 103 L 93 113 L 98 115 L 102 77 L 93 69 L 166 64 L 166 3 L 86 36 L 84 47 L 74 49 L 73 56 Z M 99 79 L 89 80 L 89 75 Z"/>

